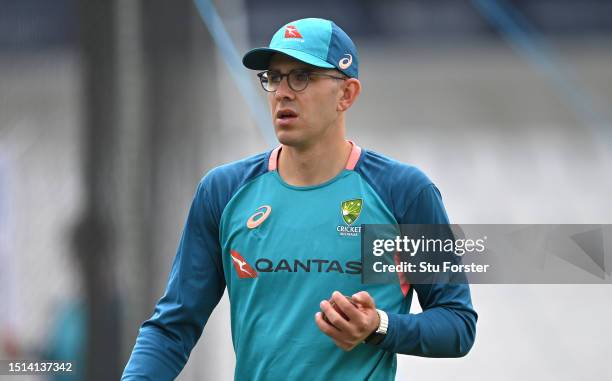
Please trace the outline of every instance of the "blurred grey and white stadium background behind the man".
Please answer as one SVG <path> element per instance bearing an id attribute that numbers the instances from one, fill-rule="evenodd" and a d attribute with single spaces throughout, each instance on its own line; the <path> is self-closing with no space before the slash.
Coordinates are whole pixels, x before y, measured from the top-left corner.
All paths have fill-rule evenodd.
<path id="1" fill-rule="evenodd" d="M 228 41 L 297 18 L 355 39 L 349 137 L 425 170 L 453 222 L 612 223 L 611 1 L 200 5 L 208 24 L 188 0 L 0 0 L 0 358 L 118 379 L 198 180 L 273 144 Z M 472 290 L 468 357 L 400 356 L 398 380 L 612 379 L 612 288 Z M 179 379 L 233 364 L 224 296 Z"/>

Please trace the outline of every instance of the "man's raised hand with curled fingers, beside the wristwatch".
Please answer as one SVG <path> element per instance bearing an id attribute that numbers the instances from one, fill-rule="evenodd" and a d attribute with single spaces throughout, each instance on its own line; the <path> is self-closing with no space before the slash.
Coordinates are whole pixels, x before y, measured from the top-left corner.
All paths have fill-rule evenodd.
<path id="1" fill-rule="evenodd" d="M 321 311 L 331 324 L 323 320 L 321 312 L 315 314 L 319 329 L 345 351 L 350 351 L 378 329 L 380 317 L 376 312 L 374 299 L 366 291 L 351 297 L 357 307 L 351 304 L 341 293 L 334 291 L 332 299 L 350 320 L 345 320 L 327 300 L 321 302 Z"/>

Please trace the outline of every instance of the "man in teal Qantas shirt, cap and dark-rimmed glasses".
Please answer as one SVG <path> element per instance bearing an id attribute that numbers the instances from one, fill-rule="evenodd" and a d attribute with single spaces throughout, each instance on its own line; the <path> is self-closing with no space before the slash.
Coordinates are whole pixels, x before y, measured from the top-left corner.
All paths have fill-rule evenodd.
<path id="1" fill-rule="evenodd" d="M 176 377 L 226 286 L 236 380 L 391 380 L 396 353 L 465 355 L 477 319 L 466 284 L 361 283 L 360 224 L 448 220 L 422 172 L 345 140 L 361 91 L 351 39 L 297 20 L 243 63 L 263 70 L 280 146 L 202 179 L 123 380 Z M 424 311 L 411 315 L 414 291 Z"/>

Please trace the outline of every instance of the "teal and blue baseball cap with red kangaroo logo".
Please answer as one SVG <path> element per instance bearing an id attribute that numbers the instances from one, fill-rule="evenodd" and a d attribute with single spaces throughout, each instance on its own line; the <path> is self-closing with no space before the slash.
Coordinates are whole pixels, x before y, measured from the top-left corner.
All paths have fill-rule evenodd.
<path id="1" fill-rule="evenodd" d="M 249 69 L 267 70 L 273 55 L 281 53 L 307 64 L 338 69 L 359 77 L 359 57 L 351 38 L 333 21 L 307 18 L 283 25 L 270 45 L 248 51 L 242 63 Z"/>

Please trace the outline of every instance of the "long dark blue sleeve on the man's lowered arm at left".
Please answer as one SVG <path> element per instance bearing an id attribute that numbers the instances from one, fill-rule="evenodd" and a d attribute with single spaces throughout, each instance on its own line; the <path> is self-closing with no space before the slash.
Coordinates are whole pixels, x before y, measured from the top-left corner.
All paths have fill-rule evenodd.
<path id="1" fill-rule="evenodd" d="M 198 185 L 164 296 L 140 328 L 121 380 L 174 380 L 225 289 L 210 179 Z"/>

